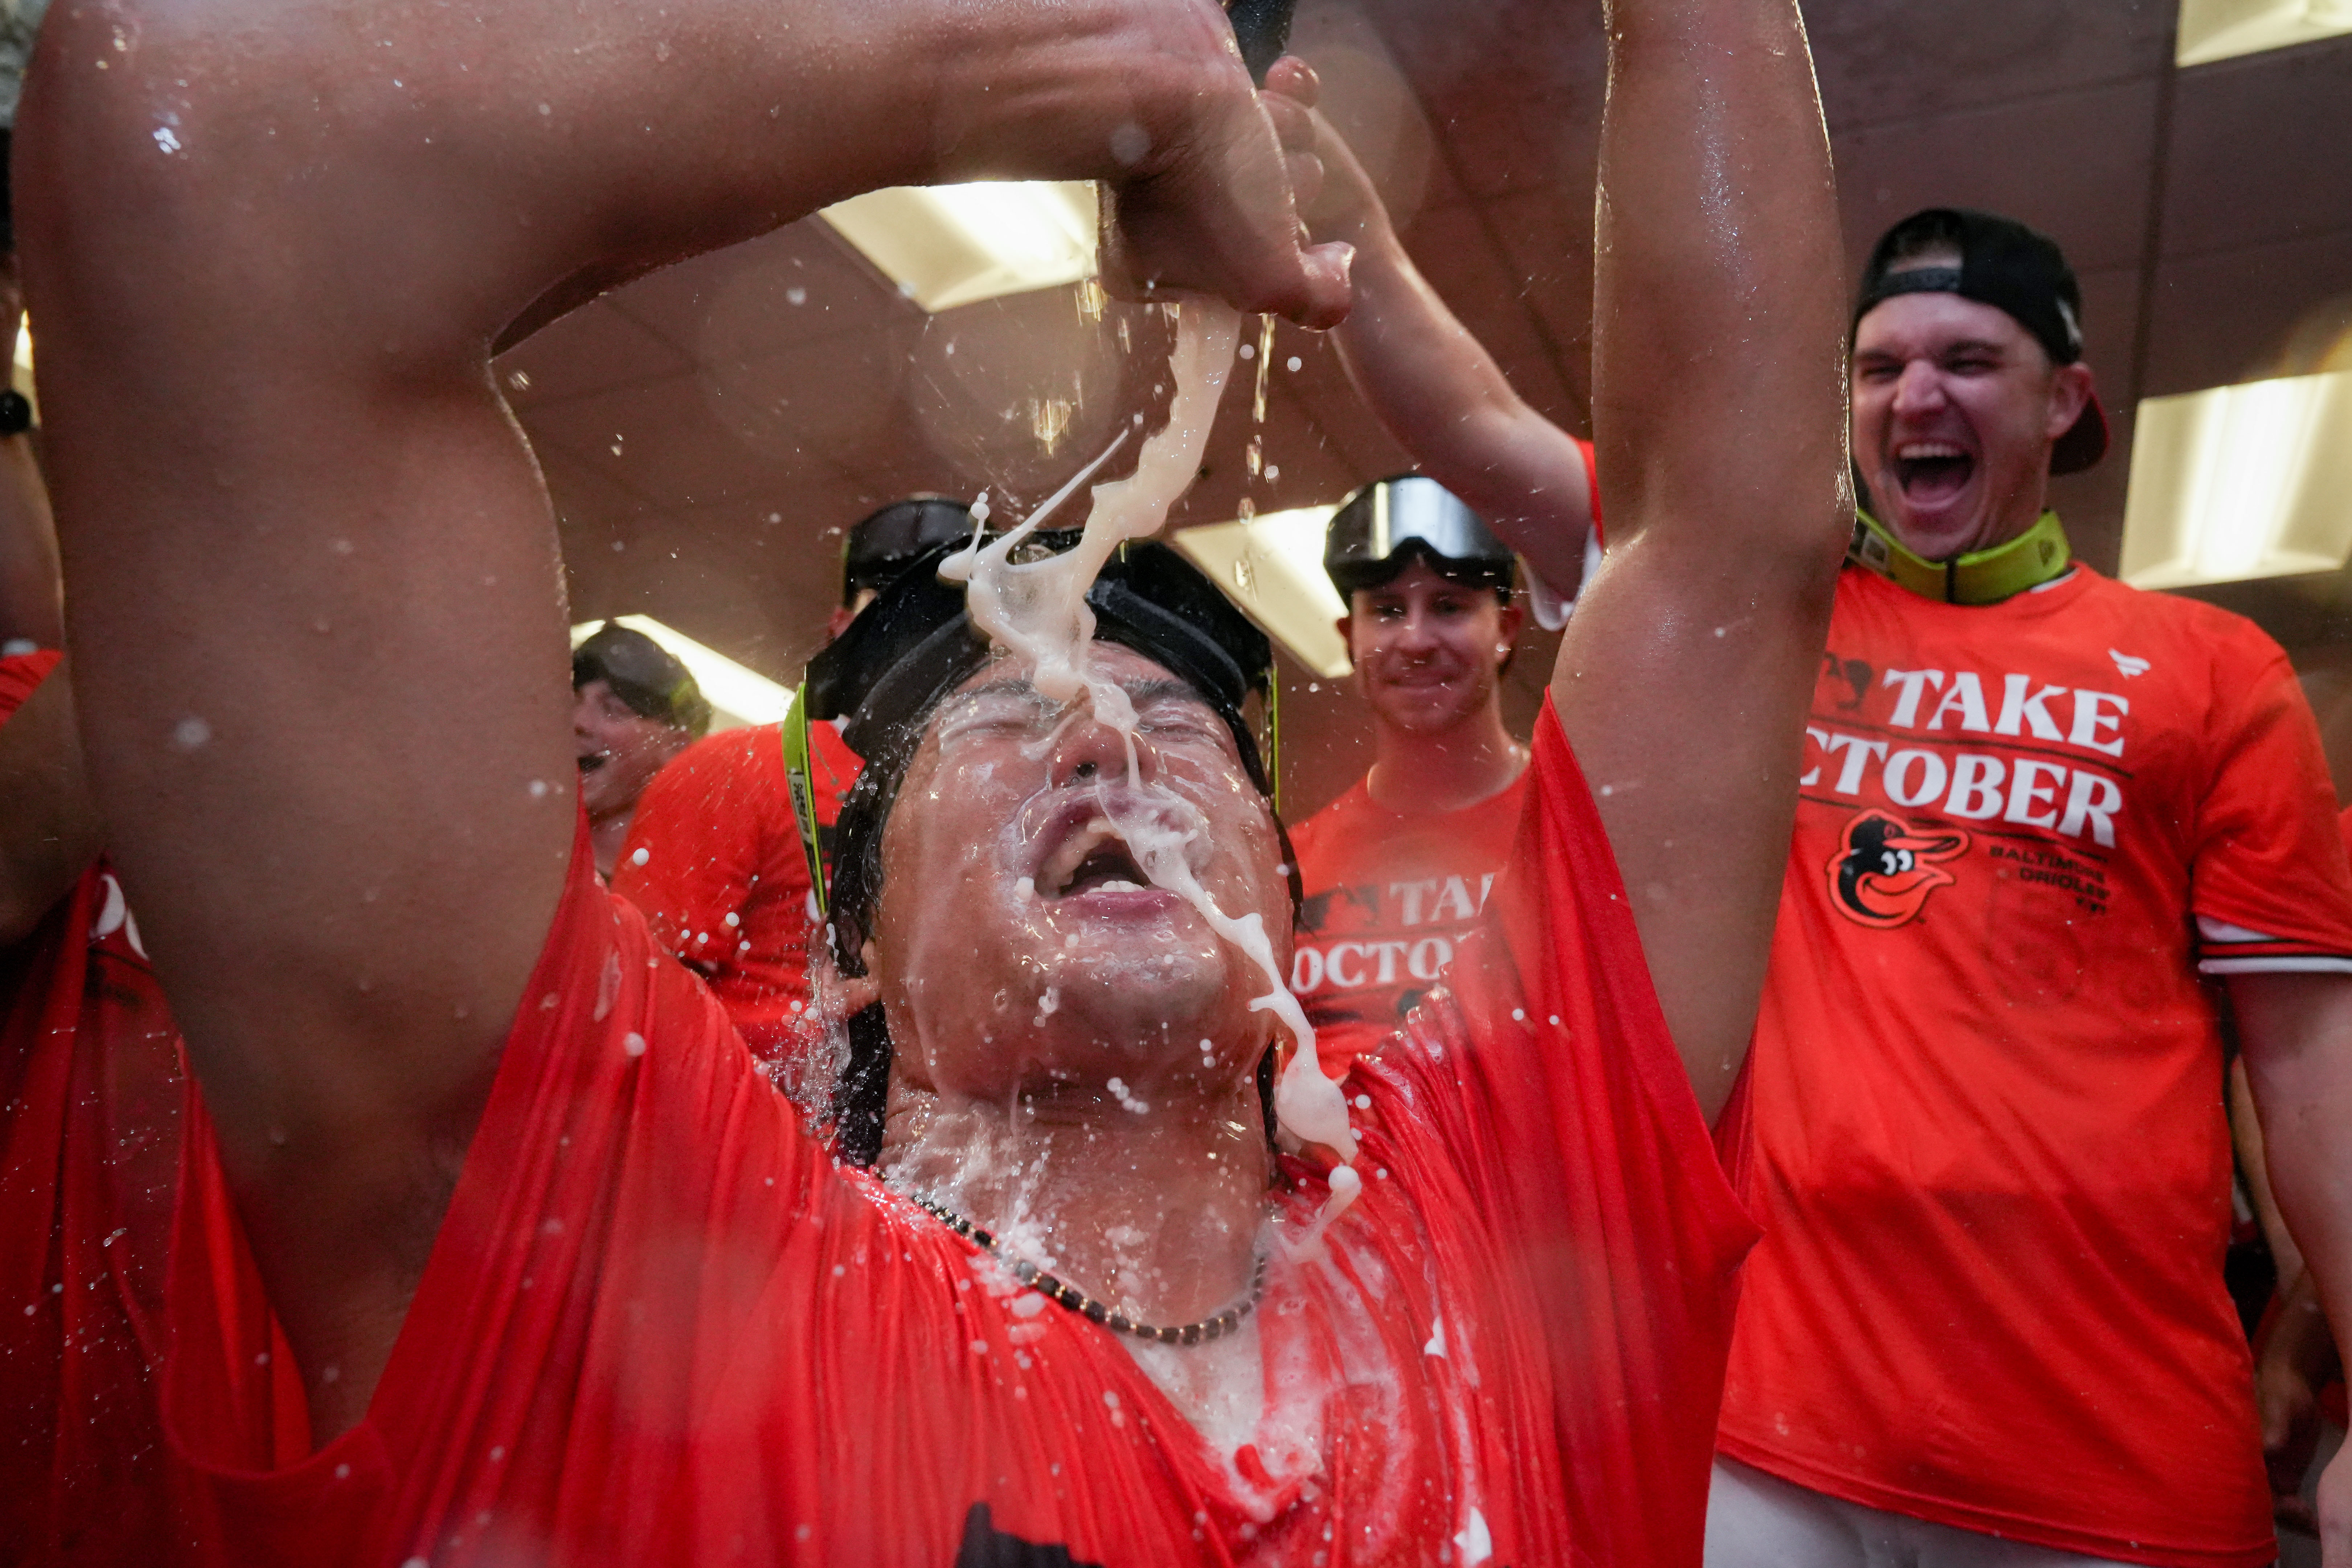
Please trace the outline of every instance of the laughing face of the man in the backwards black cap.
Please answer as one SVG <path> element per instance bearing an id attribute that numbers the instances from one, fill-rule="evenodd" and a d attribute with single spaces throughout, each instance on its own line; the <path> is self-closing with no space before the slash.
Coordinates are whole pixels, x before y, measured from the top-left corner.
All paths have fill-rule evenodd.
<path id="1" fill-rule="evenodd" d="M 2042 515 L 2051 442 L 2089 395 L 2091 369 L 2051 364 L 2006 310 L 1957 294 L 1884 301 L 1853 334 L 1853 461 L 1875 517 L 1931 562 L 2016 538 Z"/>

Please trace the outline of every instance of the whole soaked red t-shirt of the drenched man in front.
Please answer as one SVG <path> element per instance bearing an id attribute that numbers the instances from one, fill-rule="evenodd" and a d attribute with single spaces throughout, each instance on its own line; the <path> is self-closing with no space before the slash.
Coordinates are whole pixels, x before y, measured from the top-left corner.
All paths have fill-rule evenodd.
<path id="1" fill-rule="evenodd" d="M 826 1159 L 579 858 L 369 1415 L 318 1453 L 191 1164 L 186 1556 L 1068 1561 L 1009 1535 L 1087 1563 L 1696 1568 L 1755 1232 L 1550 717 L 1534 773 L 1458 997 L 1348 1086 L 1364 1197 L 1327 1251 L 1277 1248 L 1268 1415 L 1235 1453 L 1110 1331 Z M 1322 1197 L 1289 1164 L 1282 1232 Z"/>

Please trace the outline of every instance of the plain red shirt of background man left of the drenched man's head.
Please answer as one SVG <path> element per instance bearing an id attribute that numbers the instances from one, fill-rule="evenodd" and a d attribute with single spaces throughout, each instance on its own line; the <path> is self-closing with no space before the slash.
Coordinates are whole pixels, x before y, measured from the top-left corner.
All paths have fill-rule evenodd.
<path id="1" fill-rule="evenodd" d="M 736 929 L 727 917 L 750 903 L 762 870 L 797 877 L 807 893 L 807 872 L 790 856 L 762 856 L 774 802 L 760 790 L 760 745 L 776 745 L 774 726 L 708 736 L 661 769 L 637 799 L 612 877 L 612 891 L 644 912 L 654 940 L 713 980 L 734 966 Z M 764 891 L 790 900 L 781 886 Z"/>

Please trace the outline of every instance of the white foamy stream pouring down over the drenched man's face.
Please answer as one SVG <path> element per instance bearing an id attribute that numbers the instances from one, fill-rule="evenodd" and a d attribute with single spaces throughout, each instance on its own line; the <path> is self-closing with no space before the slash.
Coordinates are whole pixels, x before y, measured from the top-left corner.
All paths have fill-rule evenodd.
<path id="1" fill-rule="evenodd" d="M 1042 696 L 1070 703 L 1084 693 L 1094 715 L 1120 731 L 1127 743 L 1127 776 L 1136 780 L 1136 788 L 1127 795 L 1127 806 L 1112 802 L 1105 790 L 1105 816 L 1112 818 L 1120 837 L 1136 853 L 1143 875 L 1155 886 L 1192 905 L 1221 938 L 1249 954 L 1265 976 L 1268 992 L 1254 997 L 1249 1006 L 1251 1011 L 1275 1013 L 1294 1041 L 1291 1060 L 1275 1084 L 1275 1124 L 1289 1140 L 1298 1145 L 1319 1143 L 1343 1161 L 1331 1175 L 1331 1199 L 1308 1232 L 1308 1241 L 1312 1241 L 1362 1192 L 1362 1180 L 1345 1164 L 1355 1159 L 1348 1098 L 1322 1070 L 1322 1058 L 1315 1053 L 1315 1025 L 1308 1023 L 1298 999 L 1282 980 L 1272 943 L 1265 936 L 1265 922 L 1256 912 L 1232 919 L 1218 910 L 1185 858 L 1192 830 L 1171 827 L 1162 813 L 1138 809 L 1152 804 L 1152 795 L 1162 795 L 1167 804 L 1183 806 L 1185 802 L 1167 785 L 1143 785 L 1138 780 L 1134 705 L 1117 684 L 1096 679 L 1089 661 L 1094 649 L 1094 611 L 1087 607 L 1087 590 L 1112 550 L 1129 538 L 1145 538 L 1160 531 L 1169 508 L 1200 473 L 1200 454 L 1209 442 L 1209 425 L 1216 418 L 1225 376 L 1232 374 L 1237 336 L 1240 315 L 1230 306 L 1207 299 L 1183 303 L 1176 322 L 1176 348 L 1169 355 L 1169 371 L 1176 386 L 1176 395 L 1169 402 L 1169 421 L 1143 442 L 1131 477 L 1094 487 L 1087 529 L 1075 548 L 1037 562 L 1011 562 L 1011 552 L 1021 541 L 1120 449 L 1127 440 L 1124 433 L 1070 484 L 1030 512 L 1021 527 L 985 545 L 978 538 L 978 529 L 974 529 L 974 543 L 948 557 L 938 574 L 969 583 L 967 604 L 971 623 L 997 646 L 1035 663 L 1030 682 Z M 985 522 L 985 496 L 974 512 Z M 1176 811 L 1174 816 L 1183 820 L 1195 813 Z"/>

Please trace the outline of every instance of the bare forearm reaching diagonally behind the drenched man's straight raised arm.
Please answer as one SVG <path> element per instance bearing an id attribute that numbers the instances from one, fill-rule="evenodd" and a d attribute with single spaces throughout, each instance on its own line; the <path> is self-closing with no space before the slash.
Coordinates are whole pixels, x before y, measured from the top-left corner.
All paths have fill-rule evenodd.
<path id="1" fill-rule="evenodd" d="M 1576 592 L 1592 517 L 1583 451 L 1512 390 L 1385 219 L 1345 237 L 1355 310 L 1331 336 L 1357 395 L 1536 576 Z"/>

